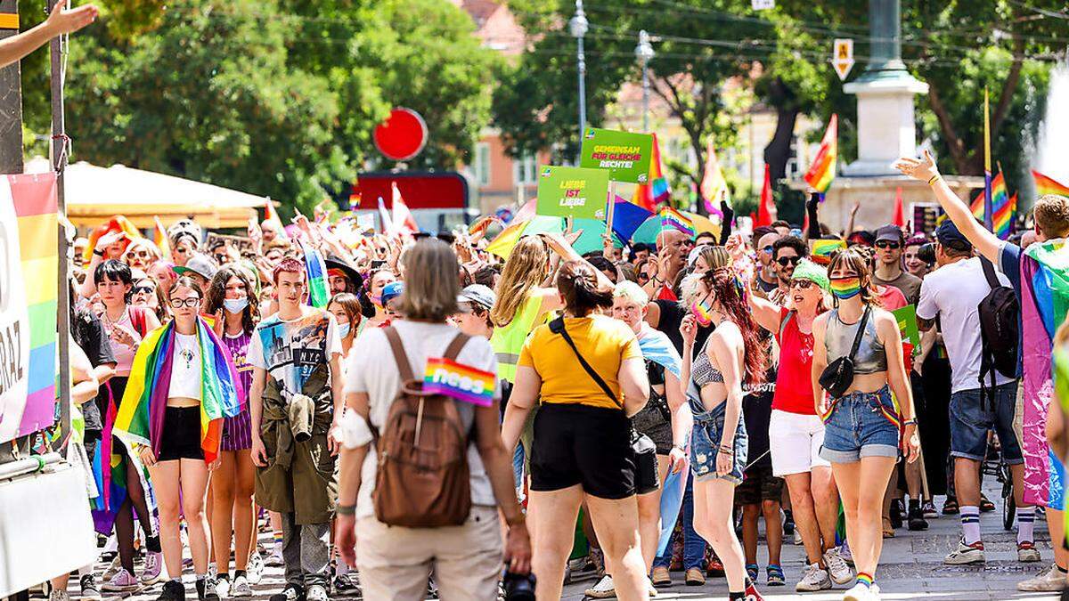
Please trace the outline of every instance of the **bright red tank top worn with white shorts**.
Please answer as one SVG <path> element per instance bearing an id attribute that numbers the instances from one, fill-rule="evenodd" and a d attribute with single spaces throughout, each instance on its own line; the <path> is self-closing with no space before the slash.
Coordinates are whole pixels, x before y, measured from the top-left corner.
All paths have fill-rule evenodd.
<path id="1" fill-rule="evenodd" d="M 776 373 L 772 409 L 816 415 L 811 384 L 812 333 L 803 334 L 799 328 L 797 315 L 793 311 L 780 309 L 776 342 L 779 343 L 779 371 Z"/>

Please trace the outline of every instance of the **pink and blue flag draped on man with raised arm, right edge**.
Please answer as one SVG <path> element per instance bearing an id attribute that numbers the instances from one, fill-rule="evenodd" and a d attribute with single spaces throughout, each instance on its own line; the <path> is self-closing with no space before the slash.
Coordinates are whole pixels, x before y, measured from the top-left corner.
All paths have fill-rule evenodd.
<path id="1" fill-rule="evenodd" d="M 1047 412 L 1054 395 L 1054 333 L 1069 311 L 1069 247 L 1033 244 L 1021 257 L 1021 363 L 1024 399 L 1024 502 L 1044 504 L 1050 487 Z"/>

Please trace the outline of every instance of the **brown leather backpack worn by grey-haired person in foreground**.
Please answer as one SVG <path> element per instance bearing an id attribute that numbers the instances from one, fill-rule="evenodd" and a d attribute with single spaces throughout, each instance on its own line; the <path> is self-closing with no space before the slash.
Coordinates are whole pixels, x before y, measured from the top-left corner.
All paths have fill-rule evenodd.
<path id="1" fill-rule="evenodd" d="M 397 330 L 387 327 L 383 332 L 401 374 L 401 389 L 382 435 L 371 427 L 378 453 L 371 495 L 375 518 L 409 528 L 460 526 L 471 510 L 467 430 L 453 399 L 423 391 Z M 455 360 L 467 341 L 466 335 L 458 334 L 446 358 Z"/>

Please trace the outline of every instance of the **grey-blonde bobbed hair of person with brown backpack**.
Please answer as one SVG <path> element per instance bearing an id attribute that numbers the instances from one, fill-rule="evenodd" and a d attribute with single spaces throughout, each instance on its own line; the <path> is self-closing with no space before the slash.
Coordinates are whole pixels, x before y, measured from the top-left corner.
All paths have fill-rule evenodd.
<path id="1" fill-rule="evenodd" d="M 448 244 L 433 237 L 417 242 L 405 255 L 404 294 L 398 311 L 405 319 L 445 323 L 458 311 L 460 268 Z"/>

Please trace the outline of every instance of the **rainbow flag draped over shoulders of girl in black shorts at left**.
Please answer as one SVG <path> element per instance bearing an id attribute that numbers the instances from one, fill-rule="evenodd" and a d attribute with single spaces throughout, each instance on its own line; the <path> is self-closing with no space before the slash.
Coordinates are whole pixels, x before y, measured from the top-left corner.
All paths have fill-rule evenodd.
<path id="1" fill-rule="evenodd" d="M 219 454 L 222 418 L 241 413 L 246 398 L 230 351 L 201 319 L 197 320 L 197 339 L 201 349 L 200 442 L 204 463 L 212 463 Z M 159 456 L 164 413 L 171 385 L 173 346 L 172 321 L 149 333 L 134 355 L 130 376 L 115 414 L 112 432 L 126 445 L 130 451 L 129 457 L 135 461 L 138 461 L 135 445 L 151 446 L 153 452 Z M 115 466 L 114 454 L 112 466 Z"/>

